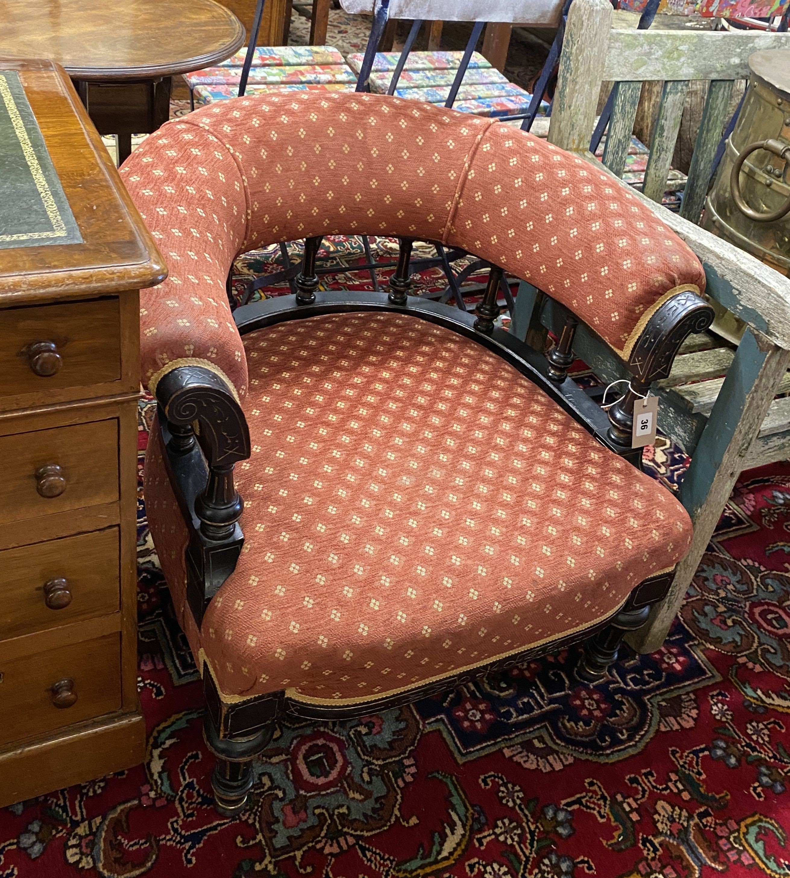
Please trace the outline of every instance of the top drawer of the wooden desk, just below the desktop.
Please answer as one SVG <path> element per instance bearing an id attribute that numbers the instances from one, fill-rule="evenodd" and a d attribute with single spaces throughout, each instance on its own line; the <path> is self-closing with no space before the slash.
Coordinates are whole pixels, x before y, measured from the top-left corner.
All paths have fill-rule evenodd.
<path id="1" fill-rule="evenodd" d="M 66 398 L 82 399 L 84 388 L 118 381 L 118 299 L 0 311 L 0 375 L 0 399 L 71 387 Z"/>

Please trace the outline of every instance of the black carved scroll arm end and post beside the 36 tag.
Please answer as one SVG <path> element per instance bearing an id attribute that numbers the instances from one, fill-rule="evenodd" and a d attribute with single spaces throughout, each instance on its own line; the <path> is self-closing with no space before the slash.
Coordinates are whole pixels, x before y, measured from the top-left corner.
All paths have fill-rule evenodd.
<path id="1" fill-rule="evenodd" d="M 703 332 L 714 319 L 714 309 L 698 293 L 679 292 L 652 314 L 628 357 L 634 376 L 628 392 L 609 409 L 609 438 L 624 449 L 631 447 L 634 404 L 654 381 L 669 378 L 680 345 L 692 333 Z M 627 456 L 627 455 L 626 455 Z"/>

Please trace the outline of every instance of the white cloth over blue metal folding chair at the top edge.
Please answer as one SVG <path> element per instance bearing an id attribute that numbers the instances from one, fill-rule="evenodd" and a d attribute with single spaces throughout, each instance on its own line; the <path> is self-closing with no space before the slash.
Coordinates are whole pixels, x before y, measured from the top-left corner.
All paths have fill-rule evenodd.
<path id="1" fill-rule="evenodd" d="M 347 12 L 372 12 L 379 0 L 341 0 Z M 557 26 L 562 0 L 390 0 L 389 18 L 428 21 L 500 21 Z"/>

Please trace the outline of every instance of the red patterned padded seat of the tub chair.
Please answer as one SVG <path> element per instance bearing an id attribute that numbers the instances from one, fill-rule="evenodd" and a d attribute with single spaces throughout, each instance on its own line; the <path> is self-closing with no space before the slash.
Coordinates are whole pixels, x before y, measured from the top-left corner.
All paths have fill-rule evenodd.
<path id="1" fill-rule="evenodd" d="M 146 504 L 225 695 L 358 701 L 588 627 L 691 523 L 527 378 L 449 329 L 351 313 L 243 337 L 246 543 L 198 631 L 154 429 Z"/>

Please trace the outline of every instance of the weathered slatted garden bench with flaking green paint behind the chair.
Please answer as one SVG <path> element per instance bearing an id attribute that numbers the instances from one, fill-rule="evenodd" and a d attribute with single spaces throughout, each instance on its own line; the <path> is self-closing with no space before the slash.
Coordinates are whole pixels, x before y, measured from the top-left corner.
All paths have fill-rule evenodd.
<path id="1" fill-rule="evenodd" d="M 721 347 L 722 342 L 708 334 L 690 336 L 670 378 L 651 388 L 660 399 L 659 427 L 663 425 L 679 439 L 692 457 L 679 495 L 692 516 L 694 536 L 691 551 L 678 565 L 670 594 L 653 608 L 650 622 L 629 636 L 639 651 L 650 652 L 666 637 L 739 473 L 781 460 L 790 451 L 790 398 L 774 399 L 790 391 L 786 374 L 790 281 L 694 225 L 700 219 L 733 81 L 749 76 L 748 59 L 753 52 L 786 47 L 790 37 L 763 32 L 620 31 L 612 30 L 611 23 L 608 0 L 574 0 L 549 140 L 594 161 L 589 145 L 600 84 L 617 83 L 603 163 L 621 176 L 642 83 L 663 81 L 643 193 L 651 204 L 660 202 L 688 83 L 708 80 L 707 103 L 680 216 L 660 204 L 652 206 L 699 256 L 707 276 L 707 295 L 747 324 L 737 348 Z M 531 320 L 533 329 L 549 327 L 560 335 L 567 313 L 540 295 L 534 309 L 533 301 L 529 295 L 516 299 L 513 331 L 523 335 Z M 574 351 L 607 382 L 628 377 L 608 346 L 583 325 L 576 330 Z"/>

